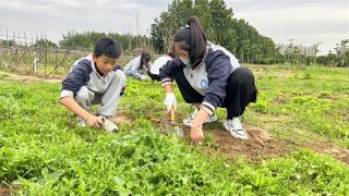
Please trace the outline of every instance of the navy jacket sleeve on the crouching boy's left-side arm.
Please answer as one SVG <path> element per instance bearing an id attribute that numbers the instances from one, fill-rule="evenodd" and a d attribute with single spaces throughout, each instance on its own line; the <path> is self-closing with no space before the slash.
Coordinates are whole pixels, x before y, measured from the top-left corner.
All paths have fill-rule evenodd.
<path id="1" fill-rule="evenodd" d="M 67 77 L 62 82 L 62 91 L 72 91 L 73 96 L 82 86 L 85 86 L 89 81 L 89 74 L 92 73 L 91 62 L 88 60 L 81 60 L 75 64 L 68 73 Z"/>

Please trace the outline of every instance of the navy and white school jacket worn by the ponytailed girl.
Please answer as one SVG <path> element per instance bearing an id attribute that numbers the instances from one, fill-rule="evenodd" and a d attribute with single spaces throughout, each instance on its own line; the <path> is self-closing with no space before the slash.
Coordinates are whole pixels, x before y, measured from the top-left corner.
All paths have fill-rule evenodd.
<path id="1" fill-rule="evenodd" d="M 173 73 L 183 72 L 189 84 L 204 96 L 201 107 L 213 114 L 224 102 L 230 74 L 239 66 L 239 61 L 232 53 L 221 46 L 208 42 L 207 53 L 194 70 L 174 58 L 160 69 L 160 78 L 165 86 L 173 82 Z"/>

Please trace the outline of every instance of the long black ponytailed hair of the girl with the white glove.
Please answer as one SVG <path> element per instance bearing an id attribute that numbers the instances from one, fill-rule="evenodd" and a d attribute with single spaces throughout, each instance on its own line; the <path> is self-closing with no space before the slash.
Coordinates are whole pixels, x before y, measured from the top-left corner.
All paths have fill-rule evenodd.
<path id="1" fill-rule="evenodd" d="M 205 56 L 207 38 L 197 17 L 190 17 L 185 27 L 176 33 L 173 41 L 180 49 L 188 51 L 193 66 L 196 66 Z"/>

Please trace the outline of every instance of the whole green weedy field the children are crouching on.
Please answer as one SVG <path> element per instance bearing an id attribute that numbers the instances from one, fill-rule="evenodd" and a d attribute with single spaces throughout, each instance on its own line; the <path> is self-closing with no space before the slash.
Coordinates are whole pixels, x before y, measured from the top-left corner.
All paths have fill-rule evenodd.
<path id="1" fill-rule="evenodd" d="M 108 134 L 76 125 L 58 81 L 0 72 L 0 195 L 348 194 L 349 70 L 249 68 L 260 90 L 243 115 L 251 139 L 231 138 L 219 109 L 203 146 L 164 134 L 160 83 L 129 78 L 121 131 Z M 190 107 L 177 98 L 181 122 Z"/>

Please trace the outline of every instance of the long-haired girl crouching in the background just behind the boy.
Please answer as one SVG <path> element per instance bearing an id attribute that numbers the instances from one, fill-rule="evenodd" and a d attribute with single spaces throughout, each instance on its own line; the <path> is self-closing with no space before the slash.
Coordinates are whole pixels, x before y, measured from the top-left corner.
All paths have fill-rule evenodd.
<path id="1" fill-rule="evenodd" d="M 125 75 L 131 75 L 136 79 L 144 81 L 146 76 L 143 73 L 151 66 L 151 54 L 142 52 L 140 57 L 134 58 L 124 66 Z"/>

